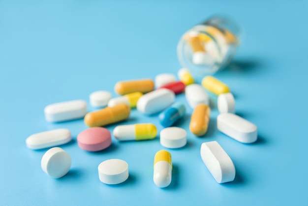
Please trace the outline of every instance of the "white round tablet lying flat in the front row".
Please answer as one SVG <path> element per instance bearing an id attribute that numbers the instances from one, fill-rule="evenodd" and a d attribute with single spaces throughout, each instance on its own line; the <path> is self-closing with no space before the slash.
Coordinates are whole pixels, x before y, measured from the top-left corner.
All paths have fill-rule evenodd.
<path id="1" fill-rule="evenodd" d="M 120 184 L 128 178 L 128 164 L 120 159 L 106 160 L 98 165 L 98 176 L 105 184 Z"/>

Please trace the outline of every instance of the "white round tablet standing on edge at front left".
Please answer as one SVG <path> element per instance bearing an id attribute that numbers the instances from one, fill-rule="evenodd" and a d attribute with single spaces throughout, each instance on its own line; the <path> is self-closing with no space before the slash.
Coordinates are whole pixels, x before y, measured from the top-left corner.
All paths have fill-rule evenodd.
<path id="1" fill-rule="evenodd" d="M 53 178 L 60 178 L 64 176 L 70 169 L 71 157 L 60 147 L 53 147 L 42 157 L 42 170 Z"/>

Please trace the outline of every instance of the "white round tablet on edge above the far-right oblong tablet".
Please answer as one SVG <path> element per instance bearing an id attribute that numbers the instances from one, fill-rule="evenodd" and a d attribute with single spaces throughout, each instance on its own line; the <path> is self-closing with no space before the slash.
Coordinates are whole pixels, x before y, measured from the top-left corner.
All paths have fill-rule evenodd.
<path id="1" fill-rule="evenodd" d="M 231 93 L 218 96 L 217 107 L 220 113 L 235 113 L 235 101 Z"/>

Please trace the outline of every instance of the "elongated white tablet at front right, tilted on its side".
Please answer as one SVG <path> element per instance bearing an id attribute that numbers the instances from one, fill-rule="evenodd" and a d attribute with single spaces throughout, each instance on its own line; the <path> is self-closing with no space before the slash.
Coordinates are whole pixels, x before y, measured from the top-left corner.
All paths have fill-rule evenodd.
<path id="1" fill-rule="evenodd" d="M 204 164 L 218 183 L 234 180 L 234 164 L 217 141 L 202 143 L 200 154 Z"/>

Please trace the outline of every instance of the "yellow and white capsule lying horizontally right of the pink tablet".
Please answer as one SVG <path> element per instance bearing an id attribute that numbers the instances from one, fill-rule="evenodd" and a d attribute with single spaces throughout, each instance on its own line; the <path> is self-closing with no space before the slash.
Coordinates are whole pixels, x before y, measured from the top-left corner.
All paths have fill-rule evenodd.
<path id="1" fill-rule="evenodd" d="M 120 141 L 153 139 L 157 135 L 154 124 L 121 125 L 113 130 L 113 135 Z"/>

